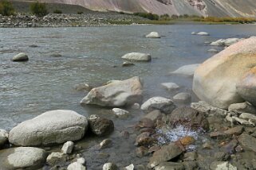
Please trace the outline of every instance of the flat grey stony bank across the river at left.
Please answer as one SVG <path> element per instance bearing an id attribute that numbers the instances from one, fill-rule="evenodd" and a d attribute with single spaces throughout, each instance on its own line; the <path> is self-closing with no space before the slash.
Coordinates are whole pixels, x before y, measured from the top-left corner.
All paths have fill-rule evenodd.
<path id="1" fill-rule="evenodd" d="M 45 17 L 36 17 L 31 14 L 17 14 L 10 17 L 0 15 L 0 28 L 125 25 L 136 24 L 137 21 L 146 21 L 146 19 L 118 13 L 48 14 Z"/>

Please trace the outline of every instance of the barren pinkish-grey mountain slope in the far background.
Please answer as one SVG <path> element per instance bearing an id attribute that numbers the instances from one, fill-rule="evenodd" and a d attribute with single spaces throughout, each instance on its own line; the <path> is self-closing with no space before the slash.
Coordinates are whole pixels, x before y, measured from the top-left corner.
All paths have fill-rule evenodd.
<path id="1" fill-rule="evenodd" d="M 17 0 L 16 0 L 17 1 Z M 35 1 L 35 0 L 27 0 Z M 84 6 L 90 10 L 256 17 L 256 0 L 40 0 Z"/>

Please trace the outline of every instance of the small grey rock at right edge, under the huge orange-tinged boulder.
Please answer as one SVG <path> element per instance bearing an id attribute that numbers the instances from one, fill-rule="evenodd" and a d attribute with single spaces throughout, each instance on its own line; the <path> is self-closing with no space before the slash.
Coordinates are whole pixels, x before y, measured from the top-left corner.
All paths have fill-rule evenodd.
<path id="1" fill-rule="evenodd" d="M 240 102 L 230 104 L 228 107 L 229 111 L 235 111 L 238 113 L 249 113 L 249 114 L 256 114 L 256 108 L 252 106 L 249 102 Z"/>

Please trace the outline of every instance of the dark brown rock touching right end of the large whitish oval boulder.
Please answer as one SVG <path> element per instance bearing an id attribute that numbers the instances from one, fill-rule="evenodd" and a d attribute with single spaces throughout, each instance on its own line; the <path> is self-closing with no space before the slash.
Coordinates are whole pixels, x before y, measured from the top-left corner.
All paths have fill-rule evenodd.
<path id="1" fill-rule="evenodd" d="M 96 134 L 96 136 L 105 136 L 114 130 L 114 123 L 108 118 L 101 118 L 96 114 L 89 117 L 89 129 Z"/>

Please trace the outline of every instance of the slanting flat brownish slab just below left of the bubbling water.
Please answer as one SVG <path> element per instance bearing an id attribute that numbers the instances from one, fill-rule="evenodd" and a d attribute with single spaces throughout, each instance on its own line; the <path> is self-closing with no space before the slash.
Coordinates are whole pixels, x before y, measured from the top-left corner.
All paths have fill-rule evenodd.
<path id="1" fill-rule="evenodd" d="M 157 165 L 179 156 L 183 151 L 175 143 L 170 143 L 169 145 L 163 145 L 162 148 L 155 153 L 150 158 L 148 167 L 154 168 Z"/>

